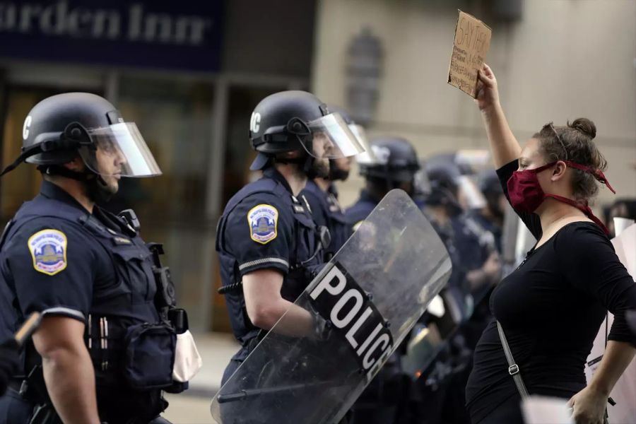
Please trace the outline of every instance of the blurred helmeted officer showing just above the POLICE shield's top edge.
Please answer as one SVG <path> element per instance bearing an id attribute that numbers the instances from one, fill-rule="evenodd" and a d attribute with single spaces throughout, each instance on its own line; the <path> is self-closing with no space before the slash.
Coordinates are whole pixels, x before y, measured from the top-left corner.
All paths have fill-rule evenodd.
<path id="1" fill-rule="evenodd" d="M 420 161 L 411 143 L 399 137 L 381 137 L 372 140 L 370 146 L 374 157 L 360 155 L 357 159 L 360 175 L 365 177 L 365 188 L 358 201 L 345 212 L 353 230 L 392 189 L 403 189 L 411 197 L 416 195 Z"/>

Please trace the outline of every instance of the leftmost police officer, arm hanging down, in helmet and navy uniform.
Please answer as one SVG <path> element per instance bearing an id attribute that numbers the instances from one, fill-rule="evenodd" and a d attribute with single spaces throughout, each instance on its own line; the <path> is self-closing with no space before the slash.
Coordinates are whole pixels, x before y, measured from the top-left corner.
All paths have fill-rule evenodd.
<path id="1" fill-rule="evenodd" d="M 165 423 L 162 389 L 183 388 L 170 319 L 184 315 L 134 213 L 95 204 L 121 177 L 160 175 L 143 137 L 97 95 L 54 95 L 26 117 L 22 153 L 3 174 L 24 160 L 43 182 L 0 239 L 0 291 L 13 305 L 0 337 L 31 312 L 43 318 L 0 423 Z"/>

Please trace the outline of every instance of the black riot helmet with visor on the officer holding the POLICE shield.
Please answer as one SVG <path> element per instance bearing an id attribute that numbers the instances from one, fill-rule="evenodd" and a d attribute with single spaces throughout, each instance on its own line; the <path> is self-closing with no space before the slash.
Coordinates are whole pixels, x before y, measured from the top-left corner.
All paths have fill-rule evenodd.
<path id="1" fill-rule="evenodd" d="M 249 139 L 259 152 L 251 170 L 264 169 L 279 153 L 304 151 L 304 157 L 295 161 L 310 175 L 315 159 L 344 158 L 364 151 L 340 114 L 329 112 L 313 94 L 298 90 L 261 100 L 252 112 Z"/>

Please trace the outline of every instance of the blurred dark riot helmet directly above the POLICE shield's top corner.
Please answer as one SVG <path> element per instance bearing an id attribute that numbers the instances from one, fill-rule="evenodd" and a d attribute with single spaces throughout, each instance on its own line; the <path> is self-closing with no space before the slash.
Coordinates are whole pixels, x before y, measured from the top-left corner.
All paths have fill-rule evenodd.
<path id="1" fill-rule="evenodd" d="M 385 184 L 387 189 L 398 188 L 402 183 L 413 183 L 415 194 L 415 177 L 420 170 L 420 160 L 415 148 L 399 137 L 380 137 L 370 142 L 370 155 L 360 155 L 360 175 L 374 184 Z"/>

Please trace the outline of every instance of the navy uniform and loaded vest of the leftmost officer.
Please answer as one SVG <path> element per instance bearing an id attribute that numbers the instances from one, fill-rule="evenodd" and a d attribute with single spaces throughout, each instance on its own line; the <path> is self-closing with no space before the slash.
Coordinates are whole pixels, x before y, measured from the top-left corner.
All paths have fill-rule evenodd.
<path id="1" fill-rule="evenodd" d="M 8 223 L 0 246 L 0 292 L 12 305 L 0 311 L 0 322 L 6 324 L 0 338 L 16 331 L 31 312 L 77 319 L 86 324 L 100 418 L 148 423 L 158 416 L 165 408 L 160 388 L 172 384 L 176 335 L 158 324 L 153 260 L 136 231 L 98 206 L 88 213 L 63 189 L 45 181 L 40 194 Z M 107 349 L 101 348 L 102 319 L 108 323 Z M 158 337 L 158 344 L 144 346 L 152 362 L 147 357 L 131 361 L 126 347 L 135 346 L 126 340 L 143 338 L 149 326 Z M 0 423 L 26 422 L 33 411 L 31 401 L 16 389 L 39 360 L 29 346 L 23 375 L 0 401 Z M 128 421 L 131 418 L 139 421 Z"/>

